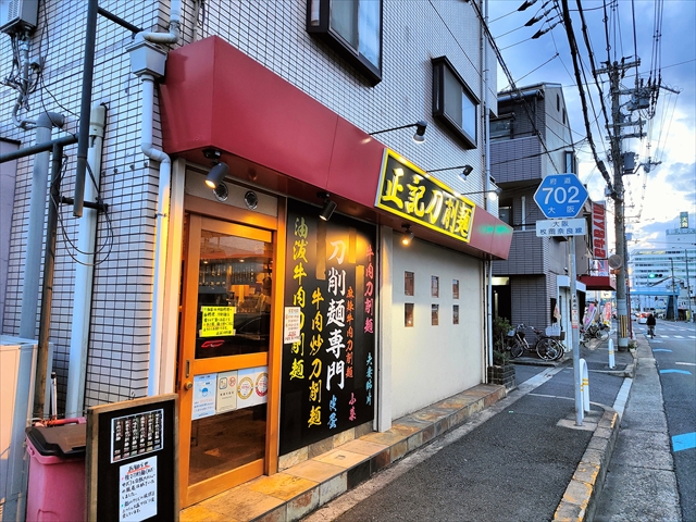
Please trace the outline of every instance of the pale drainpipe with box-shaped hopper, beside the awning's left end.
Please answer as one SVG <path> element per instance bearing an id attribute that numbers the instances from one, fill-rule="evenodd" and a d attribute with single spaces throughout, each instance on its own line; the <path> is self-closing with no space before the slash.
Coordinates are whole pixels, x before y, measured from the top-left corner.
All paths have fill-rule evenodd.
<path id="1" fill-rule="evenodd" d="M 166 249 L 170 224 L 170 191 L 172 187 L 172 160 L 152 144 L 154 119 L 154 82 L 164 75 L 166 52 L 154 44 L 176 44 L 179 39 L 182 2 L 172 0 L 169 33 L 138 33 L 128 47 L 130 70 L 142 82 L 142 124 L 140 149 L 150 160 L 160 163 L 158 207 L 154 239 L 154 274 L 152 287 L 152 328 L 150 331 L 150 364 L 148 368 L 148 396 L 158 395 L 162 369 L 162 339 L 164 324 L 164 287 L 166 276 Z"/>

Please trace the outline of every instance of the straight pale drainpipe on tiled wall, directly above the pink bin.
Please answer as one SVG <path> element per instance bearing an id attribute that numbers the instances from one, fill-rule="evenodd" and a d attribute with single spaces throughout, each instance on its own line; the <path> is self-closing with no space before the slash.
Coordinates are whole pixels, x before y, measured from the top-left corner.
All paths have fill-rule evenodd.
<path id="1" fill-rule="evenodd" d="M 85 201 L 97 201 L 101 173 L 101 154 L 107 124 L 105 105 L 96 105 L 89 114 L 89 149 L 87 164 L 94 174 L 94 183 L 85 185 Z M 82 417 L 85 401 L 85 375 L 87 373 L 87 347 L 89 319 L 95 275 L 97 220 L 99 211 L 86 208 L 79 220 L 77 236 L 77 264 L 75 266 L 75 294 L 73 297 L 73 324 L 67 365 L 65 418 Z"/>

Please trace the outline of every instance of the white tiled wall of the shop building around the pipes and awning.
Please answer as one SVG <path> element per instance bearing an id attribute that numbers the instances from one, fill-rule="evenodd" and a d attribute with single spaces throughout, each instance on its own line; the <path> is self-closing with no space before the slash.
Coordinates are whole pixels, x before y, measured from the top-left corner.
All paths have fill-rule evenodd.
<path id="1" fill-rule="evenodd" d="M 66 127 L 76 133 L 80 105 L 84 27 L 87 2 L 44 0 L 40 26 L 32 37 L 32 55 L 46 58 L 42 82 L 29 98 L 35 119 L 44 111 L 63 113 Z M 455 0 L 384 2 L 383 80 L 375 87 L 304 29 L 306 0 L 201 2 L 183 0 L 182 45 L 219 35 L 264 66 L 324 103 L 366 132 L 389 128 L 421 119 L 428 121 L 426 142 L 418 146 L 408 129 L 387 133 L 380 139 L 426 170 L 474 165 L 468 181 L 459 171 L 438 177 L 461 192 L 483 188 L 482 149 L 464 150 L 452 135 L 432 117 L 431 59 L 447 55 L 469 87 L 481 94 L 480 28 L 470 2 Z M 165 30 L 169 2 L 100 0 L 107 11 L 148 30 Z M 100 264 L 95 271 L 91 337 L 87 368 L 86 405 L 142 396 L 147 390 L 151 290 L 153 273 L 154 212 L 158 166 L 141 153 L 140 84 L 129 72 L 124 48 L 132 35 L 101 16 L 98 20 L 92 103 L 108 107 L 101 186 L 110 206 L 109 220 L 99 220 Z M 10 74 L 10 38 L 0 35 L 0 77 Z M 496 67 L 489 53 L 490 85 L 496 85 Z M 0 137 L 23 146 L 33 144 L 33 133 L 17 128 L 11 119 L 16 94 L 0 86 Z M 494 108 L 495 110 L 495 108 Z M 156 115 L 156 146 L 160 145 L 159 113 Z M 53 137 L 64 135 L 54 130 Z M 478 135 L 483 135 L 480 126 Z M 480 138 L 483 146 L 483 140 Z M 76 146 L 65 149 L 67 169 L 62 192 L 72 196 Z M 16 335 L 28 199 L 32 189 L 32 159 L 18 162 L 15 211 L 12 222 L 4 332 Z M 89 183 L 89 179 L 87 179 Z M 481 202 L 480 196 L 472 196 Z M 70 257 L 77 221 L 72 208 L 61 209 L 58 239 L 51 340 L 55 343 L 54 368 L 59 382 L 67 377 L 67 347 L 72 321 L 74 261 Z M 62 389 L 62 387 L 61 387 Z M 61 400 L 63 397 L 61 396 Z"/>

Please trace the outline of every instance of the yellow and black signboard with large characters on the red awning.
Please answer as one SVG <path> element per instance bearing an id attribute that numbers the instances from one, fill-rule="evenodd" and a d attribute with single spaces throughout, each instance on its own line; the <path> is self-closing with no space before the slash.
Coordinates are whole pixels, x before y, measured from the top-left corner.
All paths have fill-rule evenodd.
<path id="1" fill-rule="evenodd" d="M 469 243 L 476 206 L 390 149 L 384 152 L 375 206 Z"/>

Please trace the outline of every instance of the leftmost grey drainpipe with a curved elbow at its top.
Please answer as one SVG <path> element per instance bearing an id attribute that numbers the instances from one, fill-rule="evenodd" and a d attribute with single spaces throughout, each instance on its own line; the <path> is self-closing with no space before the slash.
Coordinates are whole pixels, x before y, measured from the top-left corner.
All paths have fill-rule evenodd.
<path id="1" fill-rule="evenodd" d="M 53 127 L 62 127 L 64 117 L 54 112 L 45 112 L 36 120 L 37 145 L 51 140 Z M 24 285 L 22 286 L 22 316 L 20 337 L 36 338 L 36 312 L 38 308 L 41 273 L 41 248 L 44 246 L 44 220 L 46 217 L 46 189 L 50 152 L 39 152 L 34 158 L 32 174 L 32 200 L 29 202 L 29 227 L 26 239 Z"/>

